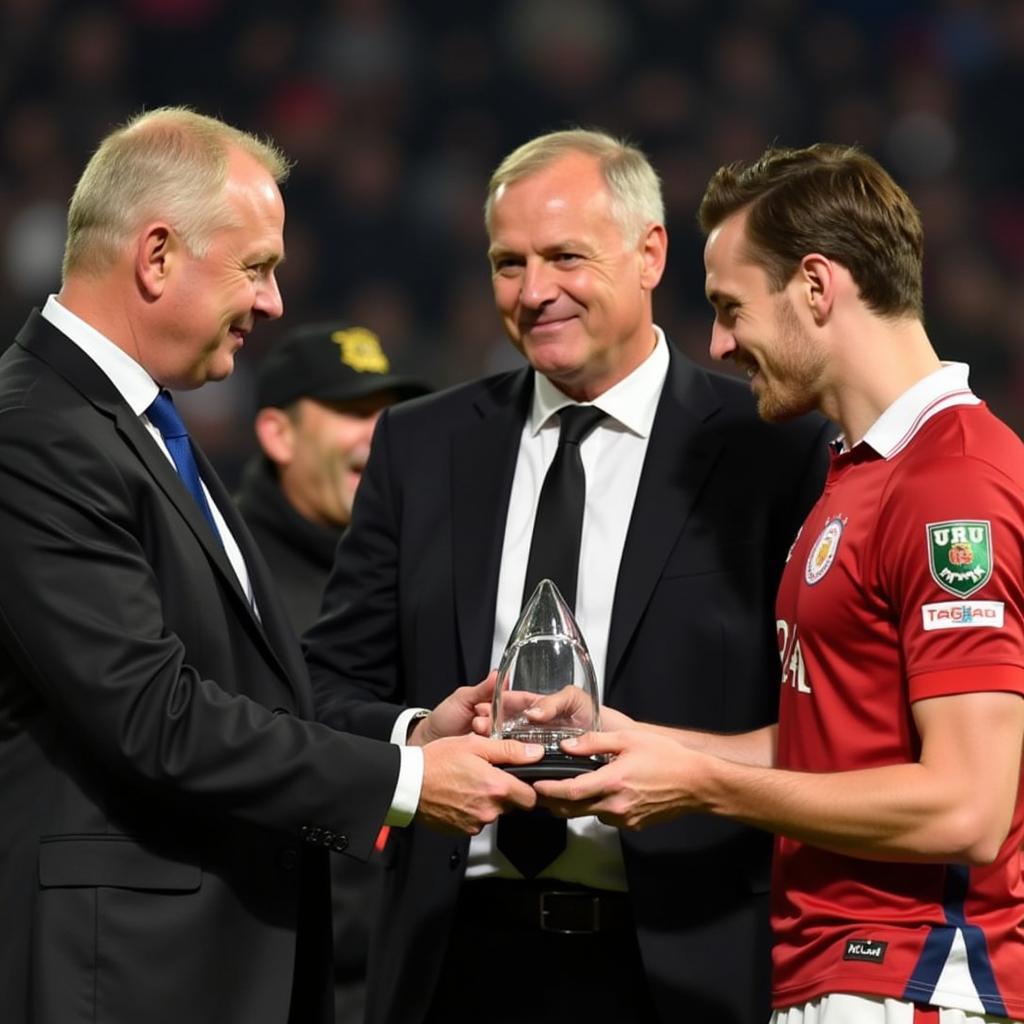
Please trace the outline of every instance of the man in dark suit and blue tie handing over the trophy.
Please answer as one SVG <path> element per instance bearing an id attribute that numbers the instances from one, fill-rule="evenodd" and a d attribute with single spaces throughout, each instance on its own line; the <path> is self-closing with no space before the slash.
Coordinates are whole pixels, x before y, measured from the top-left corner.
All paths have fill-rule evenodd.
<path id="1" fill-rule="evenodd" d="M 0 358 L 9 1024 L 330 1024 L 328 854 L 536 800 L 489 763 L 519 744 L 421 753 L 309 721 L 269 572 L 165 390 L 226 377 L 281 315 L 287 170 L 186 110 L 113 132 L 61 291 Z"/>

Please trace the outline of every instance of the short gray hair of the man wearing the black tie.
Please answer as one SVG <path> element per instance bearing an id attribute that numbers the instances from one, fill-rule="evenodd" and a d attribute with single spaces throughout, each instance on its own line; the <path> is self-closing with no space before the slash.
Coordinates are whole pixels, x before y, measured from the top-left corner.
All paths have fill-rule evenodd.
<path id="1" fill-rule="evenodd" d="M 495 197 L 502 185 L 529 177 L 570 153 L 587 154 L 597 160 L 611 198 L 611 215 L 628 246 L 639 242 L 648 225 L 665 223 L 662 182 L 647 158 L 636 146 L 605 132 L 572 128 L 539 135 L 498 165 L 483 205 L 487 227 Z"/>

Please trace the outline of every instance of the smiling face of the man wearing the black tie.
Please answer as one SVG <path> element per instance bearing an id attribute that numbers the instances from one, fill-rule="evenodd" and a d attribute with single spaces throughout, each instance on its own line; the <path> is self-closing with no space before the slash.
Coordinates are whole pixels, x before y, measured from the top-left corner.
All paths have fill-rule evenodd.
<path id="1" fill-rule="evenodd" d="M 570 153 L 500 187 L 488 228 L 505 330 L 563 392 L 594 398 L 650 354 L 665 229 L 627 245 L 593 157 Z"/>

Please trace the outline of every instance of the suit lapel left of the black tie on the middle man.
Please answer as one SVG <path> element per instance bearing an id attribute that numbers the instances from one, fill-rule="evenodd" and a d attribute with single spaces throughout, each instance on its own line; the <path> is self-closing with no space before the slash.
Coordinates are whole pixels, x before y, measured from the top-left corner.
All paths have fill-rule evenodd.
<path id="1" fill-rule="evenodd" d="M 502 378 L 478 398 L 479 421 L 452 442 L 456 622 L 469 683 L 477 682 L 490 662 L 505 521 L 532 389 L 531 371 Z"/>

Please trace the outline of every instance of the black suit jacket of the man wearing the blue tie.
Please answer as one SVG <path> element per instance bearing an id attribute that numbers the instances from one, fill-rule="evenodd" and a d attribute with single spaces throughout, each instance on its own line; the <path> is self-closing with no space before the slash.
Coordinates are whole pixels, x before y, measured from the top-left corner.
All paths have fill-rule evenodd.
<path id="1" fill-rule="evenodd" d="M 95 364 L 38 313 L 0 359 L 11 1024 L 284 1024 L 293 980 L 292 1019 L 332 1020 L 324 844 L 369 856 L 397 752 L 304 721 L 298 643 L 199 461 L 258 617 Z"/>

